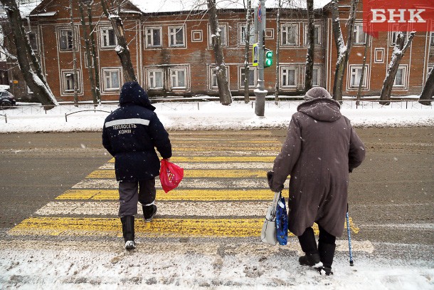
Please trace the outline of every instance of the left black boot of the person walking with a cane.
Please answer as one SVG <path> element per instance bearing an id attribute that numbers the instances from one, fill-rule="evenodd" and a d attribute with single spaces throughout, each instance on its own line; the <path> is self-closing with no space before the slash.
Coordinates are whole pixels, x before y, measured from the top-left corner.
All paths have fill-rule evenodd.
<path id="1" fill-rule="evenodd" d="M 300 242 L 303 252 L 305 252 L 305 256 L 298 259 L 300 265 L 312 266 L 315 269 L 320 268 L 322 263 L 319 259 L 317 240 L 315 239 L 312 227 L 308 227 L 305 232 L 298 237 L 298 241 Z"/>

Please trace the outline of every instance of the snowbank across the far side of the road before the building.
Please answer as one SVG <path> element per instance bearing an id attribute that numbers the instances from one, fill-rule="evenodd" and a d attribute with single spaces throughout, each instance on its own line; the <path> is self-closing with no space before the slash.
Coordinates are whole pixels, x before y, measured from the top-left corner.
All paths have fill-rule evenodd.
<path id="1" fill-rule="evenodd" d="M 211 101 L 154 103 L 154 106 L 167 130 L 252 130 L 286 128 L 299 104 L 297 101 L 281 101 L 275 105 L 273 101 L 267 101 L 264 118 L 255 115 L 255 103 L 245 104 L 243 101 L 231 105 Z M 117 105 L 103 104 L 95 111 L 89 111 L 92 108 L 92 105 L 79 108 L 61 105 L 45 112 L 40 107 L 18 106 L 0 111 L 0 133 L 100 131 L 108 115 L 106 112 L 115 110 Z M 73 113 L 77 111 L 80 112 Z M 369 101 L 356 106 L 354 101 L 344 101 L 341 111 L 354 127 L 434 125 L 433 106 L 421 105 L 416 100 L 393 102 L 388 106 Z M 65 114 L 70 113 L 73 114 L 65 118 Z"/>

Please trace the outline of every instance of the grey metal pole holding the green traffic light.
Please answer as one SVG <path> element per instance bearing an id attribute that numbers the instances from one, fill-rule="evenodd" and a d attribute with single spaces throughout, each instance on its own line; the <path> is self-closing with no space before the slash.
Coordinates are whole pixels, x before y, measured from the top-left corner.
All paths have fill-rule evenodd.
<path id="1" fill-rule="evenodd" d="M 258 6 L 255 26 L 258 34 L 258 85 L 254 90 L 255 93 L 255 114 L 259 117 L 264 117 L 265 96 L 268 91 L 264 88 L 264 61 L 265 61 L 265 0 L 260 0 Z"/>

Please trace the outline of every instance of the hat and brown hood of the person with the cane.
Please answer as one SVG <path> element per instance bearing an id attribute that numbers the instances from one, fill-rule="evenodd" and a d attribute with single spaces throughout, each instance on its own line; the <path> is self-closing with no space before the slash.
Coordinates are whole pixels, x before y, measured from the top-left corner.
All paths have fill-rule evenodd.
<path id="1" fill-rule="evenodd" d="M 306 92 L 305 102 L 297 107 L 297 111 L 304 113 L 315 120 L 334 122 L 342 117 L 341 105 L 321 87 L 311 88 Z"/>

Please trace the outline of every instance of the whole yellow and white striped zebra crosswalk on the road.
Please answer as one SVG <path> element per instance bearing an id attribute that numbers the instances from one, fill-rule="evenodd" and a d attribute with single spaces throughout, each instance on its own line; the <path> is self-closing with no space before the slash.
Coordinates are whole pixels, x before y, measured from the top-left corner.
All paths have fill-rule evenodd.
<path id="1" fill-rule="evenodd" d="M 184 180 L 168 193 L 156 182 L 157 216 L 151 223 L 137 218 L 136 236 L 259 237 L 273 197 L 266 172 L 280 141 L 263 132 L 176 132 L 171 141 L 171 162 L 184 168 Z M 98 166 L 9 234 L 121 237 L 114 159 Z M 350 226 L 359 231 L 352 221 Z"/>

